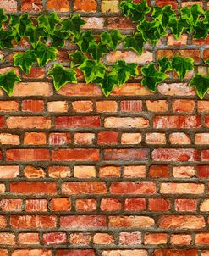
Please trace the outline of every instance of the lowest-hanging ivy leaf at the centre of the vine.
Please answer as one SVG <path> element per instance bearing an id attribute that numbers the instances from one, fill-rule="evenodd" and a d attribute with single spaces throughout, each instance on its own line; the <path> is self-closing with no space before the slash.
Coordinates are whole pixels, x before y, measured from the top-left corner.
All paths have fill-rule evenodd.
<path id="1" fill-rule="evenodd" d="M 104 78 L 97 77 L 93 83 L 99 84 L 104 95 L 108 97 L 113 91 L 114 86 L 117 86 L 118 84 L 118 74 L 115 72 L 106 72 Z"/>

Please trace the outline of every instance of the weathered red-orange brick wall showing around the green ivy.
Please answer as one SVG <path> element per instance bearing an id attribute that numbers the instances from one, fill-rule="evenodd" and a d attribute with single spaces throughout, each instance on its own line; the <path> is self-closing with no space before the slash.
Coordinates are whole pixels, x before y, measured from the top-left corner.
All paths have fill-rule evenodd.
<path id="1" fill-rule="evenodd" d="M 165 3 L 192 2 L 156 1 Z M 134 29 L 118 1 L 1 0 L 0 8 L 60 16 L 74 10 L 85 29 Z M 169 35 L 141 56 L 121 48 L 106 61 L 143 65 L 180 54 L 204 73 L 208 42 Z M 58 52 L 61 63 L 69 63 L 69 51 Z M 14 69 L 13 53 L 4 54 L 0 72 Z M 208 97 L 198 100 L 175 74 L 156 94 L 130 81 L 108 98 L 78 77 L 56 93 L 46 70 L 35 67 L 13 97 L 0 92 L 0 255 L 209 255 Z"/>

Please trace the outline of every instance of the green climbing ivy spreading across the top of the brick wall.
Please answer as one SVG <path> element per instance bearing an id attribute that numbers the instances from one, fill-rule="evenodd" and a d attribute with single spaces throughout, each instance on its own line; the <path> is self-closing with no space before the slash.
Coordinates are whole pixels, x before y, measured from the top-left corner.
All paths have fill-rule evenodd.
<path id="1" fill-rule="evenodd" d="M 139 76 L 139 66 L 118 60 L 113 65 L 106 65 L 104 55 L 116 51 L 119 43 L 124 49 L 143 52 L 146 42 L 155 46 L 162 36 L 172 33 L 176 39 L 183 32 L 194 39 L 206 39 L 209 31 L 209 11 L 204 11 L 198 4 L 174 11 L 170 5 L 164 8 L 154 7 L 152 10 L 146 0 L 134 3 L 125 0 L 120 3 L 125 17 L 129 17 L 136 25 L 132 36 L 122 36 L 120 31 L 111 30 L 93 35 L 91 31 L 82 31 L 85 20 L 79 14 L 68 19 L 60 19 L 58 14 L 41 14 L 30 18 L 29 14 L 6 15 L 0 9 L 0 49 L 10 49 L 19 44 L 23 38 L 30 42 L 30 49 L 24 53 L 14 54 L 14 66 L 19 67 L 26 75 L 34 64 L 44 67 L 50 61 L 55 62 L 59 48 L 66 42 L 76 47 L 69 54 L 69 67 L 54 64 L 47 72 L 52 77 L 53 85 L 58 91 L 66 83 L 76 83 L 76 69 L 83 72 L 86 83 L 101 86 L 107 97 L 115 86 L 124 86 L 130 79 Z M 208 66 L 209 60 L 205 65 Z M 49 65 L 51 66 L 51 65 Z M 169 71 L 175 71 L 180 81 L 184 80 L 189 70 L 194 70 L 192 58 L 163 57 L 157 63 L 149 63 L 141 68 L 141 85 L 155 92 L 157 85 L 168 78 Z M 14 71 L 0 75 L 0 87 L 11 96 L 14 86 L 20 81 Z M 190 81 L 200 98 L 209 90 L 209 75 L 195 74 Z"/>

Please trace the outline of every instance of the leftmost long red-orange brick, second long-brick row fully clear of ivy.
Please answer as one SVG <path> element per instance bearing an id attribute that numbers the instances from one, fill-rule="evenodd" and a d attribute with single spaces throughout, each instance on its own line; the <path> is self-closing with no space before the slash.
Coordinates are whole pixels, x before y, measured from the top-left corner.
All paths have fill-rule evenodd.
<path id="1" fill-rule="evenodd" d="M 6 159 L 8 161 L 48 161 L 50 156 L 48 149 L 8 149 Z"/>

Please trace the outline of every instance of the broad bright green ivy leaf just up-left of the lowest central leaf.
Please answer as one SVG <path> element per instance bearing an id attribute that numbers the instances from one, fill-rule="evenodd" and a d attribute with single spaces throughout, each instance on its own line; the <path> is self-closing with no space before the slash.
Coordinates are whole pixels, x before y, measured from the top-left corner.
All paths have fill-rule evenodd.
<path id="1" fill-rule="evenodd" d="M 84 73 L 86 83 L 94 81 L 97 77 L 104 78 L 106 67 L 95 60 L 85 59 L 84 63 L 79 66 Z"/>

